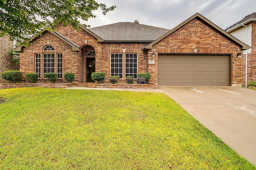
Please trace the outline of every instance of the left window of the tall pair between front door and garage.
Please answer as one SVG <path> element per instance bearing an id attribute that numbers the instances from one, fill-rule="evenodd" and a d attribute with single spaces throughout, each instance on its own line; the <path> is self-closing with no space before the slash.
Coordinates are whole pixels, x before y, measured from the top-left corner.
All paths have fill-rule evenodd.
<path id="1" fill-rule="evenodd" d="M 110 57 L 110 75 L 119 75 L 120 79 L 123 78 L 123 54 L 113 53 Z"/>

